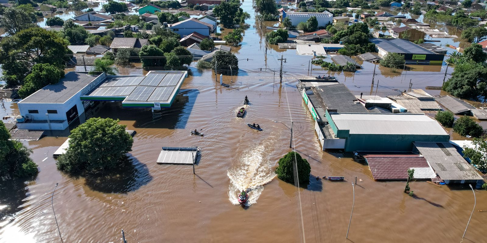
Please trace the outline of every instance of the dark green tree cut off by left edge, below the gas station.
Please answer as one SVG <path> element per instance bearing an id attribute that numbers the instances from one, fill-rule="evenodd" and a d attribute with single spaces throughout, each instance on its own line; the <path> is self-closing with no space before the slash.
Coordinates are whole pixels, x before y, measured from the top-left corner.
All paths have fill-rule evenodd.
<path id="1" fill-rule="evenodd" d="M 37 164 L 29 155 L 31 151 L 21 142 L 9 140 L 5 124 L 0 122 L 0 177 L 31 177 L 37 175 Z"/>

